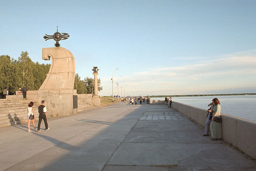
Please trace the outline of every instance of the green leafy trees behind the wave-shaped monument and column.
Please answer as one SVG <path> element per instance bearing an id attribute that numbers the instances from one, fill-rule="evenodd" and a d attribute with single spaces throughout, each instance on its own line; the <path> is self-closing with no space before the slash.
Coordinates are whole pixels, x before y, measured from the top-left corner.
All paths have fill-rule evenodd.
<path id="1" fill-rule="evenodd" d="M 51 64 L 40 64 L 33 62 L 28 52 L 21 52 L 18 60 L 9 55 L 0 56 L 0 98 L 3 98 L 3 90 L 8 89 L 9 95 L 13 95 L 19 88 L 26 86 L 28 90 L 38 90 L 43 84 Z M 102 90 L 98 78 L 98 90 Z M 89 94 L 94 91 L 93 78 L 86 77 L 81 80 L 78 74 L 75 75 L 74 89 L 77 94 Z"/>

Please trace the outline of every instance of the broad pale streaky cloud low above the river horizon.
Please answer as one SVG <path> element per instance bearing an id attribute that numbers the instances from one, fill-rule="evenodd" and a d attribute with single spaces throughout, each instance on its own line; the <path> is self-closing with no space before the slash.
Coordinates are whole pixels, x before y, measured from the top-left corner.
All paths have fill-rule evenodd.
<path id="1" fill-rule="evenodd" d="M 188 61 L 187 61 L 188 62 Z M 256 84 L 256 49 L 200 60 L 183 66 L 152 68 L 124 76 L 129 92 L 146 94 L 240 92 Z M 128 88 L 127 88 L 128 89 Z M 253 88 L 247 88 L 252 91 Z M 247 92 L 249 93 L 249 92 Z M 253 92 L 252 92 L 253 93 Z"/>

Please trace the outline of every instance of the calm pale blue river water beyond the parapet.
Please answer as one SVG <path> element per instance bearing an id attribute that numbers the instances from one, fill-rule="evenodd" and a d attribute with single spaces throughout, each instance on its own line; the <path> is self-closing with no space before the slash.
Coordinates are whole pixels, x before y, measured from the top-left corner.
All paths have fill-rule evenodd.
<path id="1" fill-rule="evenodd" d="M 207 105 L 214 98 L 220 100 L 221 113 L 256 122 L 256 95 L 172 97 L 172 100 L 198 108 L 208 109 L 209 107 Z M 150 100 L 164 100 L 164 97 L 153 97 Z"/>

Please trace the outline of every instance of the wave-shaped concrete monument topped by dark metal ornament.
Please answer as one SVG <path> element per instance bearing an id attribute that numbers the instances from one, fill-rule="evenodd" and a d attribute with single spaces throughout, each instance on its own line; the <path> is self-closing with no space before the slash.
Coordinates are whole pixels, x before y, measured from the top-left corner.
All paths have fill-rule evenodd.
<path id="1" fill-rule="evenodd" d="M 73 90 L 75 81 L 75 58 L 65 48 L 61 48 L 59 41 L 68 39 L 67 33 L 57 32 L 53 35 L 45 34 L 45 41 L 56 41 L 55 48 L 42 48 L 42 59 L 52 59 L 50 70 L 38 91 L 28 91 L 28 99 L 45 101 L 47 110 L 55 115 L 73 115 L 77 113 L 77 94 Z"/>

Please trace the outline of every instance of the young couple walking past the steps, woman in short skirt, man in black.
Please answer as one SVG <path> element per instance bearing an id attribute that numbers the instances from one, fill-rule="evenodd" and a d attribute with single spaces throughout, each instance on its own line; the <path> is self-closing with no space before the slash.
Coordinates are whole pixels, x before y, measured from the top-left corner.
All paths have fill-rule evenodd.
<path id="1" fill-rule="evenodd" d="M 30 122 L 32 121 L 34 130 L 36 130 L 36 125 L 35 125 L 35 111 L 34 111 L 34 102 L 30 101 L 28 104 L 28 115 L 27 115 L 27 119 L 28 119 L 28 132 L 32 132 L 30 130 Z M 39 113 L 39 121 L 38 121 L 38 125 L 37 125 L 37 132 L 41 132 L 40 130 L 40 126 L 41 126 L 41 122 L 42 120 L 44 120 L 44 126 L 45 126 L 45 130 L 50 130 L 50 128 L 48 128 L 48 123 L 47 123 L 47 119 L 46 119 L 46 107 L 44 106 L 44 100 L 41 101 L 41 105 L 38 107 L 37 109 L 37 113 Z"/>

